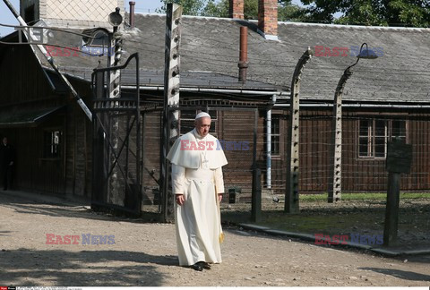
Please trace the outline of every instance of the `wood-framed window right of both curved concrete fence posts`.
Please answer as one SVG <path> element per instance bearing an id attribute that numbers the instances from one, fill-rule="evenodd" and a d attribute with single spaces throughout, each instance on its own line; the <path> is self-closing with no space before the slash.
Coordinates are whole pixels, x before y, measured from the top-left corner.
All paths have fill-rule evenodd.
<path id="1" fill-rule="evenodd" d="M 385 158 L 387 142 L 393 137 L 399 137 L 406 142 L 406 121 L 359 120 L 358 158 Z"/>

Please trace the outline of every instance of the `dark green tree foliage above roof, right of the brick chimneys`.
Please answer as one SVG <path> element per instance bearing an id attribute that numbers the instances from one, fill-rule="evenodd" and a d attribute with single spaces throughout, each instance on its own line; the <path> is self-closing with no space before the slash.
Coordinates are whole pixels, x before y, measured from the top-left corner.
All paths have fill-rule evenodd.
<path id="1" fill-rule="evenodd" d="M 430 1 L 426 0 L 302 0 L 306 21 L 374 26 L 428 27 Z M 335 14 L 341 16 L 336 19 Z"/>

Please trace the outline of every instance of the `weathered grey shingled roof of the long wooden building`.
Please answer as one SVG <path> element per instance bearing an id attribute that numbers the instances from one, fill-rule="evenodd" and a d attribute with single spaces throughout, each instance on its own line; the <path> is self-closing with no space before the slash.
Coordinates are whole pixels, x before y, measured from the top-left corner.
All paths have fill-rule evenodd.
<path id="1" fill-rule="evenodd" d="M 124 58 L 139 52 L 142 83 L 162 85 L 166 17 L 136 14 L 135 28 L 122 29 Z M 47 23 L 49 24 L 49 23 Z M 299 57 L 307 47 L 313 50 L 342 48 L 340 55 L 316 54 L 305 66 L 301 98 L 332 99 L 345 68 L 357 60 L 353 50 L 366 42 L 379 55 L 360 59 L 348 80 L 343 99 L 392 103 L 429 102 L 430 29 L 341 26 L 308 23 L 279 23 L 279 41 L 267 40 L 254 21 L 184 16 L 181 38 L 182 85 L 210 88 L 289 90 Z M 248 26 L 248 81 L 236 81 L 239 55 L 239 27 Z M 82 38 L 55 32 L 63 46 L 82 46 Z M 336 49 L 334 49 L 336 50 Z M 97 56 L 56 56 L 56 64 L 76 74 L 90 71 L 105 58 Z M 82 72 L 81 72 L 82 73 Z"/>

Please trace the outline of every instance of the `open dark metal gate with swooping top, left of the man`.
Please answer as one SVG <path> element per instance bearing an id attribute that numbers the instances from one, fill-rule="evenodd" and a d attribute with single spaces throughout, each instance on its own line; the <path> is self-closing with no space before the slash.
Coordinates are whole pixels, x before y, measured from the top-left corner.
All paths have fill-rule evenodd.
<path id="1" fill-rule="evenodd" d="M 135 60 L 135 92 L 109 98 L 109 73 L 123 71 Z M 142 157 L 139 55 L 124 65 L 94 69 L 91 209 L 141 215 Z M 119 90 L 119 87 L 118 87 Z"/>

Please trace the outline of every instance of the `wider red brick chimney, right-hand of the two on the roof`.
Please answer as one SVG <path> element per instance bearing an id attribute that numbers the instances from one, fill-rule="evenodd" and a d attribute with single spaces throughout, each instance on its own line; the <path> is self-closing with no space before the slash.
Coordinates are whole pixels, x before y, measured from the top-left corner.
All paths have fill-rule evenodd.
<path id="1" fill-rule="evenodd" d="M 258 0 L 258 28 L 266 38 L 278 38 L 277 0 Z"/>

